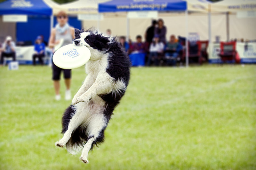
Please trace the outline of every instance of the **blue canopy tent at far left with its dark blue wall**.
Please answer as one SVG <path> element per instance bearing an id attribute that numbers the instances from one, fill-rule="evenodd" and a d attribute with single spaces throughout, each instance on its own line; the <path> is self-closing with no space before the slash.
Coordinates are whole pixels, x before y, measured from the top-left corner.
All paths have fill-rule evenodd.
<path id="1" fill-rule="evenodd" d="M 16 38 L 18 41 L 34 41 L 38 32 L 44 35 L 45 38 L 48 38 L 50 30 L 53 26 L 53 17 L 52 9 L 44 3 L 42 0 L 7 0 L 0 3 L 0 15 L 28 15 L 28 22 L 20 23 L 16 25 Z M 35 17 L 38 19 L 38 22 L 35 20 Z M 50 17 L 50 22 L 49 22 Z M 34 23 L 31 25 L 31 23 Z M 25 28 L 24 28 L 25 25 Z M 44 27 L 43 27 L 44 25 Z M 45 30 L 45 27 L 50 27 L 49 30 Z M 26 31 L 24 35 L 23 31 Z M 29 32 L 29 34 L 28 34 Z M 25 37 L 24 39 L 24 36 Z"/>

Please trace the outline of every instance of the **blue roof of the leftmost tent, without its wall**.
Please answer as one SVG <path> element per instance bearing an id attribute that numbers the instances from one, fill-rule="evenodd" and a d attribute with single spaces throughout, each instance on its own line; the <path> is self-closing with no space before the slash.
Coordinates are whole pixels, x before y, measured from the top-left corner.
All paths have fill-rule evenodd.
<path id="1" fill-rule="evenodd" d="M 42 0 L 7 0 L 0 3 L 0 15 L 52 15 L 52 9 Z"/>

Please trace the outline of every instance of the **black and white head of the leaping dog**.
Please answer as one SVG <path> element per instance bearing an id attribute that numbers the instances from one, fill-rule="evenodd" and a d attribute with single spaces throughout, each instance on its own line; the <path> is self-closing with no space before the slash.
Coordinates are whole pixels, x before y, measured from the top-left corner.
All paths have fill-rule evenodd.
<path id="1" fill-rule="evenodd" d="M 76 46 L 87 46 L 91 53 L 94 50 L 104 51 L 107 49 L 108 42 L 110 41 L 108 37 L 99 34 L 97 31 L 81 31 L 75 29 L 75 39 L 73 44 Z"/>

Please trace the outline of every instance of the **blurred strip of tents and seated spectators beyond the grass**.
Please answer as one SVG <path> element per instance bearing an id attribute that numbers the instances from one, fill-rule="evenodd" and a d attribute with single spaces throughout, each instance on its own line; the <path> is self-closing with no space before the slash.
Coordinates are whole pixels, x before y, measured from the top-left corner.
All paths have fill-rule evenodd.
<path id="1" fill-rule="evenodd" d="M 51 65 L 54 46 L 49 45 L 50 32 L 58 24 L 60 11 L 68 18 L 67 24 L 74 28 L 93 27 L 117 36 L 132 66 L 256 62 L 255 1 L 144 2 L 162 5 L 155 9 L 150 6 L 151 11 L 147 6 L 135 10 L 135 5 L 129 6 L 132 3 L 2 0 L 1 64 L 17 60 L 19 64 Z"/>

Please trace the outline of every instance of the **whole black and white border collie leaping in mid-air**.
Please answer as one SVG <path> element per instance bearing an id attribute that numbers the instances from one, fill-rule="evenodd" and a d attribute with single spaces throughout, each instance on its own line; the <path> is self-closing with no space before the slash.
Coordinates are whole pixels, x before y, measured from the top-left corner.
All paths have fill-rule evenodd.
<path id="1" fill-rule="evenodd" d="M 104 131 L 113 110 L 124 96 L 130 79 L 130 60 L 113 37 L 96 31 L 75 29 L 73 44 L 87 46 L 91 58 L 82 87 L 62 117 L 63 138 L 55 145 L 66 145 L 68 152 L 82 150 L 80 159 L 88 163 L 88 152 L 104 140 Z"/>

